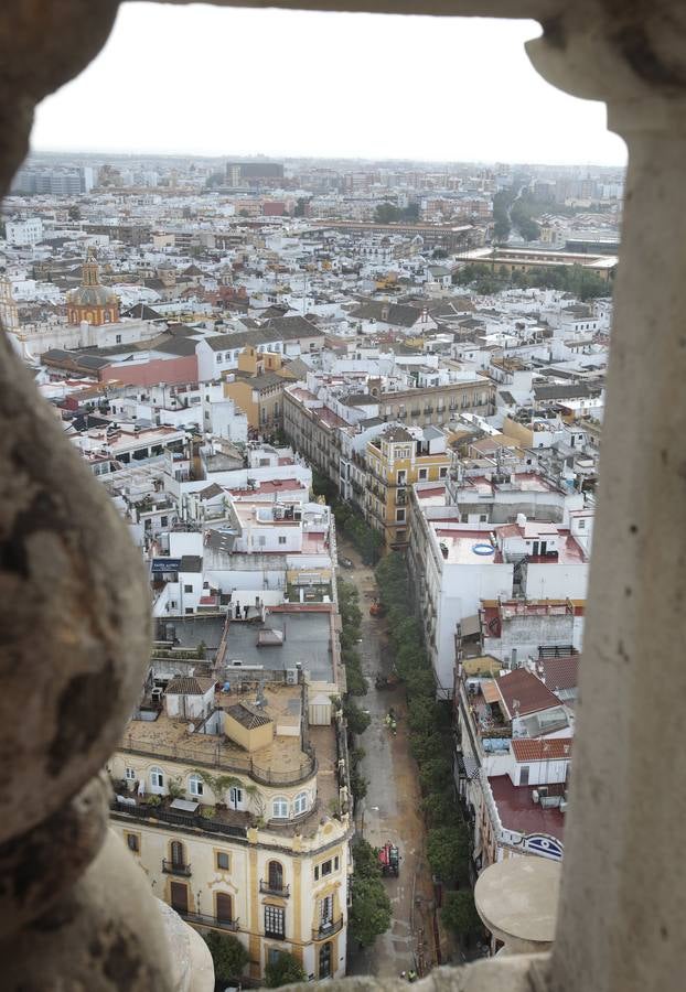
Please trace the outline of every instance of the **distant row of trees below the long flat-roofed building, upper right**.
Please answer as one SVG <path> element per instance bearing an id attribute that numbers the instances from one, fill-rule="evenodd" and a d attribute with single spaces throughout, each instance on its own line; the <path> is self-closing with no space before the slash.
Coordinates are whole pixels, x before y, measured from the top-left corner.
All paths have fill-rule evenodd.
<path id="1" fill-rule="evenodd" d="M 608 296 L 612 285 L 585 266 L 559 266 L 555 269 L 536 267 L 523 272 L 510 272 L 506 266 L 500 268 L 476 262 L 463 266 L 453 276 L 458 285 L 469 285 L 475 292 L 489 295 L 505 289 L 555 289 L 571 293 L 579 300 L 594 300 Z"/>

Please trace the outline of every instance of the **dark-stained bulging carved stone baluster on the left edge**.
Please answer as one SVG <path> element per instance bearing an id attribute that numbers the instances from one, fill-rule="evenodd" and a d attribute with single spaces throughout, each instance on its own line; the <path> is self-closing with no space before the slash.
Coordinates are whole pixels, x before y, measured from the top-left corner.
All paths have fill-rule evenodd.
<path id="1" fill-rule="evenodd" d="M 34 104 L 104 43 L 115 0 L 6 0 L 0 194 Z M 0 335 L 0 960 L 8 992 L 206 992 L 172 958 L 163 915 L 107 832 L 99 769 L 150 653 L 140 554 L 105 489 Z M 183 926 L 183 925 L 182 925 Z M 201 941 L 202 942 L 202 941 Z"/>

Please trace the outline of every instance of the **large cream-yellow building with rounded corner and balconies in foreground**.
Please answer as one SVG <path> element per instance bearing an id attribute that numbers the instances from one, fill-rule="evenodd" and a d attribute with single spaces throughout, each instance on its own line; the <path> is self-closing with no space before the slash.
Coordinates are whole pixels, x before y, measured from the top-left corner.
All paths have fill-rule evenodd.
<path id="1" fill-rule="evenodd" d="M 236 937 L 253 980 L 283 951 L 311 980 L 345 974 L 345 731 L 334 712 L 306 742 L 304 698 L 283 684 L 264 687 L 259 708 L 217 698 L 208 734 L 176 719 L 192 705 L 167 708 L 130 721 L 108 766 L 112 827 L 154 895 L 201 932 Z"/>

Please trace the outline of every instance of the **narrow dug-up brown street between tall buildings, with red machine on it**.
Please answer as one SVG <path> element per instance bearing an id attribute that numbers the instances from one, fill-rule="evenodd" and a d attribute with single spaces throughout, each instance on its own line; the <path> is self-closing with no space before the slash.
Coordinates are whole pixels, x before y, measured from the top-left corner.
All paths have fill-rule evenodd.
<path id="1" fill-rule="evenodd" d="M 409 751 L 405 690 L 399 687 L 377 691 L 374 687 L 377 673 L 390 671 L 390 657 L 385 651 L 385 621 L 369 616 L 376 592 L 374 572 L 362 564 L 360 556 L 346 541 L 340 540 L 340 552 L 355 563 L 354 569 L 342 569 L 341 575 L 360 591 L 360 650 L 368 691 L 357 699 L 357 703 L 372 718 L 358 738 L 365 750 L 362 772 L 368 787 L 356 813 L 357 833 L 375 847 L 392 841 L 398 845 L 401 859 L 399 878 L 384 880 L 393 906 L 392 927 L 372 948 L 360 950 L 351 941 L 349 973 L 397 978 L 401 971 L 417 967 L 418 951 L 424 955 L 427 968 L 433 963 L 430 912 L 433 893 L 425 853 L 419 781 Z M 389 707 L 398 718 L 396 736 L 384 722 Z"/>

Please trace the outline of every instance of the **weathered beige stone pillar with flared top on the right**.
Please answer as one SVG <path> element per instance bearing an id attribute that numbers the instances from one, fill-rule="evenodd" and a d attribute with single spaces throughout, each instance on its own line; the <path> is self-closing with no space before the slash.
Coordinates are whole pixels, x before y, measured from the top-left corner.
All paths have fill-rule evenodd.
<path id="1" fill-rule="evenodd" d="M 548 982 L 684 982 L 686 10 L 598 4 L 529 45 L 629 145 L 561 902 Z"/>

